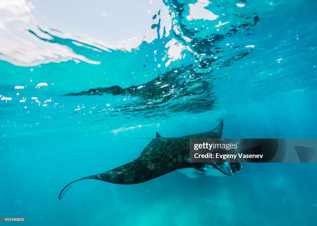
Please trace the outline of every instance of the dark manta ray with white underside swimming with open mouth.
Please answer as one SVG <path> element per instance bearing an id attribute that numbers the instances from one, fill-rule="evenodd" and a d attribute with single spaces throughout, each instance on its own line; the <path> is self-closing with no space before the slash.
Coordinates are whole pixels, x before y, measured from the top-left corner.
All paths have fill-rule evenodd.
<path id="1" fill-rule="evenodd" d="M 156 138 L 152 139 L 137 159 L 104 173 L 83 177 L 69 183 L 61 191 L 59 199 L 68 191 L 70 185 L 83 179 L 131 185 L 152 180 L 175 170 L 190 178 L 197 178 L 203 174 L 207 176 L 233 176 L 242 168 L 241 162 L 215 163 L 213 160 L 210 163 L 190 162 L 189 139 L 207 138 L 213 139 L 215 143 L 224 143 L 220 140 L 222 130 L 223 120 L 213 130 L 182 137 L 165 138 L 156 132 Z"/>

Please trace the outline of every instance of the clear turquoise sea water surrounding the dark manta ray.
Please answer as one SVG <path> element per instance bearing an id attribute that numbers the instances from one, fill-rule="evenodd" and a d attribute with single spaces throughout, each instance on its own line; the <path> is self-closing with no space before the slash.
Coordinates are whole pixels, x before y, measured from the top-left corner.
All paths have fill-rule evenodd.
<path id="1" fill-rule="evenodd" d="M 317 3 L 215 1 L 205 9 L 225 14 L 220 27 L 188 21 L 189 3 L 165 2 L 181 34 L 131 52 L 26 31 L 100 64 L 0 61 L 0 95 L 11 97 L 0 101 L 0 217 L 26 217 L 25 225 L 315 225 L 317 165 L 308 163 L 244 164 L 233 177 L 172 172 L 136 185 L 85 180 L 58 200 L 69 182 L 132 161 L 149 143 L 126 138 L 199 133 L 221 119 L 223 138 L 316 138 Z M 165 66 L 172 38 L 190 50 Z"/>

